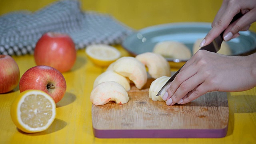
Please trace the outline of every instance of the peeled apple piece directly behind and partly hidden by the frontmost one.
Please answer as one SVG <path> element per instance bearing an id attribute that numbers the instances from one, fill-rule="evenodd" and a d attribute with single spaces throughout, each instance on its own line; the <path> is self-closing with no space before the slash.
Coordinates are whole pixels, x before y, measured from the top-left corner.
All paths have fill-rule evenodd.
<path id="1" fill-rule="evenodd" d="M 98 84 L 102 82 L 117 82 L 118 84 L 121 84 L 126 91 L 130 90 L 130 80 L 128 80 L 126 77 L 121 76 L 120 74 L 108 70 L 106 72 L 103 72 L 100 74 L 94 81 L 93 88 L 95 88 Z"/>

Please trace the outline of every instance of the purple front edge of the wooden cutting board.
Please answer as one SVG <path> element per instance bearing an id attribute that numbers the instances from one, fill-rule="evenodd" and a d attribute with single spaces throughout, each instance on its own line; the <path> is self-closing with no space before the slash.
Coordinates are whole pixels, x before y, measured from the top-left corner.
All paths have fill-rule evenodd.
<path id="1" fill-rule="evenodd" d="M 97 138 L 222 138 L 228 132 L 223 129 L 190 129 L 190 130 L 97 130 L 93 128 Z"/>

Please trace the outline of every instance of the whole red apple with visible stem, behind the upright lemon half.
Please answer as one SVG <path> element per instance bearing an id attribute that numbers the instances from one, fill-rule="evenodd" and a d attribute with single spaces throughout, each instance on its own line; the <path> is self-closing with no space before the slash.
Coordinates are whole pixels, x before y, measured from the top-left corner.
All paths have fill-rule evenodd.
<path id="1" fill-rule="evenodd" d="M 49 94 L 55 103 L 63 98 L 66 87 L 66 80 L 61 72 L 50 66 L 34 66 L 20 78 L 20 92 L 42 90 Z"/>

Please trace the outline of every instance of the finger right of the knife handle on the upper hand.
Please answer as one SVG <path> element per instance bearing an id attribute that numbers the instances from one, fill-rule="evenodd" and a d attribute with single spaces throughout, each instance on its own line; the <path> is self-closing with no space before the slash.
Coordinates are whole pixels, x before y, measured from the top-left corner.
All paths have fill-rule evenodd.
<path id="1" fill-rule="evenodd" d="M 251 10 L 244 14 L 244 16 L 230 24 L 223 34 L 224 40 L 228 41 L 234 36 L 234 34 L 238 33 L 239 31 L 247 28 L 249 29 L 250 24 L 256 21 L 256 16 L 254 16 L 255 13 L 256 10 Z"/>

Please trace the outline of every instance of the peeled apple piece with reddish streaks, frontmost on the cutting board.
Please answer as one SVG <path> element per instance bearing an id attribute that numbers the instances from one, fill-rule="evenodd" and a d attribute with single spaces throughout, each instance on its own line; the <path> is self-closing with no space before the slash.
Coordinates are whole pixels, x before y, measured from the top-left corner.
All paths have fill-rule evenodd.
<path id="1" fill-rule="evenodd" d="M 125 104 L 129 96 L 124 87 L 117 82 L 102 82 L 93 88 L 90 102 L 95 105 L 104 105 L 110 101 L 116 104 Z"/>

